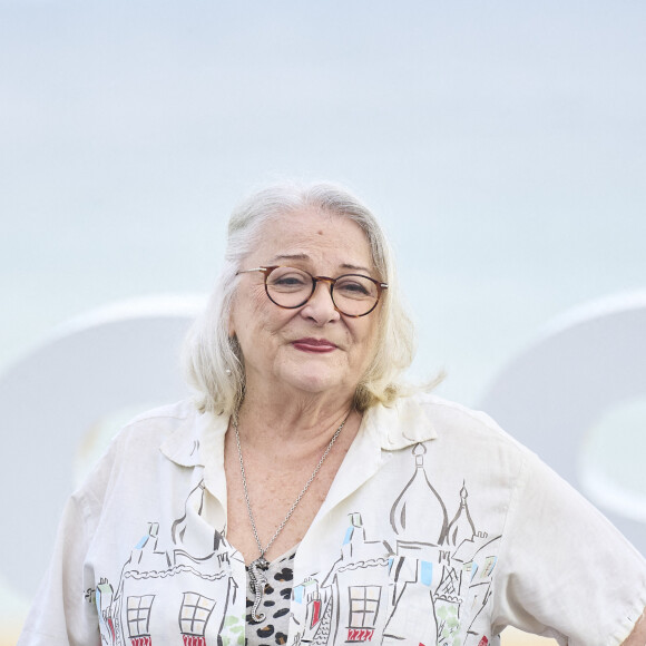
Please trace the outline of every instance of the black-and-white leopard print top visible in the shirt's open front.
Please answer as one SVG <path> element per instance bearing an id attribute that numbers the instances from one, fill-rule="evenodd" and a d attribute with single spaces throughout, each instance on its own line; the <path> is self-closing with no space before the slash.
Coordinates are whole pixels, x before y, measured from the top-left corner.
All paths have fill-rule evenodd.
<path id="1" fill-rule="evenodd" d="M 292 599 L 292 579 L 294 578 L 294 557 L 296 548 L 273 560 L 265 571 L 268 584 L 258 613 L 264 613 L 262 621 L 252 619 L 251 610 L 255 595 L 248 585 L 247 567 L 247 615 L 246 646 L 275 646 L 287 643 L 290 624 L 290 601 Z"/>

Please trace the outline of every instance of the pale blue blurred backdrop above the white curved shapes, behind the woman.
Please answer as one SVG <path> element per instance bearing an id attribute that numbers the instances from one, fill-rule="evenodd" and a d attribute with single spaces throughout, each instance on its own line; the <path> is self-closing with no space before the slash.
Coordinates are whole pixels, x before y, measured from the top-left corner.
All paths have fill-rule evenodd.
<path id="1" fill-rule="evenodd" d="M 625 0 L 0 0 L 0 369 L 208 290 L 235 202 L 297 176 L 381 216 L 415 374 L 477 402 L 549 319 L 646 287 L 645 33 Z"/>

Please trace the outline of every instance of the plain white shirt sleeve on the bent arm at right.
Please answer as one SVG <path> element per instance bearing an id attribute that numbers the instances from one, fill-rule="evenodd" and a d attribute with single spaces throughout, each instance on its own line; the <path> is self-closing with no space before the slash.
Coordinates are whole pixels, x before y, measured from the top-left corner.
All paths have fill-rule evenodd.
<path id="1" fill-rule="evenodd" d="M 493 624 L 568 646 L 617 646 L 646 606 L 646 561 L 580 493 L 527 453 L 493 588 Z"/>

